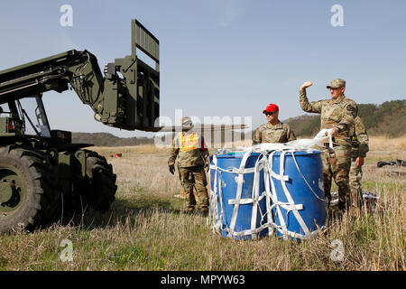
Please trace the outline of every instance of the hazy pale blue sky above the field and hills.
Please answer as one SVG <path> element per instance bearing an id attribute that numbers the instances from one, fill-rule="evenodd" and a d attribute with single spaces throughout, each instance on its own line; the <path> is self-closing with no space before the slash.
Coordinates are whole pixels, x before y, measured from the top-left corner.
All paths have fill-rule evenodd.
<path id="1" fill-rule="evenodd" d="M 60 25 L 62 5 L 72 26 Z M 92 52 L 102 68 L 131 53 L 134 18 L 160 40 L 161 116 L 173 120 L 182 109 L 201 120 L 253 117 L 255 128 L 270 103 L 281 120 L 300 116 L 306 80 L 310 101 L 329 98 L 336 78 L 357 103 L 405 98 L 404 0 L 2 1 L 0 70 L 71 49 Z M 43 99 L 52 129 L 151 135 L 97 123 L 72 91 Z"/>

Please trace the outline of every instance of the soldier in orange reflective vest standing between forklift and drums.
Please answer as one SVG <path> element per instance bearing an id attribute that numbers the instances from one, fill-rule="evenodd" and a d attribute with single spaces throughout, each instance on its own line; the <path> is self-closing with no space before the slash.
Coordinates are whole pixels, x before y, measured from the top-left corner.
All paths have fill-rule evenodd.
<path id="1" fill-rule="evenodd" d="M 196 199 L 193 187 L 198 195 L 198 205 L 202 212 L 208 212 L 208 185 L 205 167 L 208 167 L 208 147 L 202 135 L 193 129 L 190 117 L 182 118 L 183 131 L 173 138 L 171 155 L 168 160 L 170 172 L 175 172 L 175 161 L 178 159 L 180 183 L 185 191 L 187 211 L 193 211 Z M 186 130 L 189 128 L 189 130 Z"/>

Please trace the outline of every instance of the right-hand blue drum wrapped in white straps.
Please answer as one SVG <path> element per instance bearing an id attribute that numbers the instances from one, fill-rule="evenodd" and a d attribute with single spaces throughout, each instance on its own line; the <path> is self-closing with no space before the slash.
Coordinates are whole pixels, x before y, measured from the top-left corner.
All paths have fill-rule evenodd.
<path id="1" fill-rule="evenodd" d="M 320 152 L 273 152 L 268 161 L 277 236 L 302 239 L 317 234 L 326 223 Z"/>

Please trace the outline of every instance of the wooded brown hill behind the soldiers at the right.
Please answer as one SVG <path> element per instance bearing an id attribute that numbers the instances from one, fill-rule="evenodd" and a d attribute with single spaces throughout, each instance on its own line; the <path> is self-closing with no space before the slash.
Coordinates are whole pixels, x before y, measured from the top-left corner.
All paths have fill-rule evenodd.
<path id="1" fill-rule="evenodd" d="M 406 135 L 406 100 L 392 100 L 381 105 L 358 104 L 368 135 L 397 137 Z M 283 121 L 297 136 L 313 136 L 320 130 L 320 115 L 309 114 Z"/>

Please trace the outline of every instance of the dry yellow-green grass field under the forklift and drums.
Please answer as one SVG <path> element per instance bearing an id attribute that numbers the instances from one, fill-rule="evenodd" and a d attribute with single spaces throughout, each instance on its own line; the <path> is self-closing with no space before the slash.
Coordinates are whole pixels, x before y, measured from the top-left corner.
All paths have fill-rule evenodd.
<path id="1" fill-rule="evenodd" d="M 371 139 L 363 185 L 380 196 L 376 210 L 351 210 L 349 215 L 331 218 L 323 234 L 300 243 L 272 237 L 221 238 L 207 217 L 184 214 L 184 200 L 173 197 L 180 182 L 168 171 L 168 149 L 140 145 L 95 150 L 106 156 L 117 174 L 112 210 L 64 219 L 32 233 L 0 236 L 0 270 L 406 268 L 406 174 L 394 167 L 376 168 L 379 160 L 406 160 L 406 137 Z M 110 157 L 113 153 L 123 157 Z M 337 242 L 344 248 L 341 261 L 332 258 Z"/>

